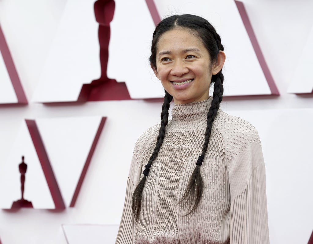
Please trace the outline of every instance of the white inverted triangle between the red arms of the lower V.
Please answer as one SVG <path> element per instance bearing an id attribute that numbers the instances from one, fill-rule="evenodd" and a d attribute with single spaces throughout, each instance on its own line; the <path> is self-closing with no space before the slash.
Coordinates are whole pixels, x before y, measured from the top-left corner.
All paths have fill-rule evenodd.
<path id="1" fill-rule="evenodd" d="M 70 206 L 101 117 L 37 119 L 65 205 Z"/>

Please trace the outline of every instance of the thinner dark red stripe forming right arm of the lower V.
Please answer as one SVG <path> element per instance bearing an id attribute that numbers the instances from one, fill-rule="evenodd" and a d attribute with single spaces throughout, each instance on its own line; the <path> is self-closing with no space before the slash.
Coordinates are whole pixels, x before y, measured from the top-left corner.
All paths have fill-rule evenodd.
<path id="1" fill-rule="evenodd" d="M 71 201 L 71 204 L 69 205 L 70 207 L 74 207 L 75 206 L 75 203 L 76 203 L 76 200 L 77 200 L 77 197 L 78 197 L 78 194 L 80 192 L 80 188 L 83 184 L 83 181 L 85 179 L 85 176 L 86 176 L 86 173 L 87 173 L 87 170 L 88 170 L 88 167 L 89 167 L 89 164 L 90 164 L 90 161 L 91 161 L 91 158 L 92 158 L 92 155 L 94 154 L 95 152 L 95 148 L 97 146 L 97 143 L 98 143 L 98 140 L 100 138 L 100 134 L 102 132 L 102 129 L 104 127 L 104 124 L 105 124 L 105 120 L 106 120 L 106 117 L 102 117 L 101 121 L 100 121 L 100 125 L 98 127 L 98 131 L 95 135 L 95 139 L 91 145 L 91 148 L 90 148 L 90 151 L 89 151 L 89 154 L 88 154 L 88 157 L 86 159 L 86 162 L 85 162 L 85 165 L 84 165 L 84 168 L 80 174 L 80 179 L 78 180 L 78 183 L 77 183 L 77 186 L 76 186 L 76 189 L 74 191 L 74 195 L 73 195 L 73 198 L 72 198 L 72 201 Z"/>

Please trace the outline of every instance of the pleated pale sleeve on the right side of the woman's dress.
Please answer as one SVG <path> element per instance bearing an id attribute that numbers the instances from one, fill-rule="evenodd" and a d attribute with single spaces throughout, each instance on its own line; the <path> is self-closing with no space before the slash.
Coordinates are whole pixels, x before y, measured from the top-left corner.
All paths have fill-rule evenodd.
<path id="1" fill-rule="evenodd" d="M 253 127 L 228 163 L 231 197 L 231 244 L 269 243 L 265 166 L 259 135 Z M 240 143 L 238 143 L 240 144 Z"/>

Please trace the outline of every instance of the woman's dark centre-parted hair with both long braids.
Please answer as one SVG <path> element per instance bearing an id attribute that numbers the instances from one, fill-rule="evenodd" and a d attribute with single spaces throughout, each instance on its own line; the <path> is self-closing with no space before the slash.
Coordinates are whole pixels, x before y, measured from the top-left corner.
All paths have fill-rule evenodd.
<path id="1" fill-rule="evenodd" d="M 204 18 L 191 15 L 191 14 L 183 14 L 183 15 L 173 15 L 168 18 L 163 19 L 157 26 L 155 31 L 153 32 L 153 38 L 151 43 L 151 56 L 150 63 L 154 70 L 156 70 L 156 50 L 157 43 L 162 34 L 166 31 L 177 29 L 177 28 L 186 28 L 191 31 L 192 34 L 196 35 L 199 40 L 202 41 L 205 48 L 208 50 L 210 55 L 211 63 L 217 62 L 217 57 L 219 51 L 223 51 L 224 47 L 221 44 L 221 38 L 216 33 L 214 27 Z M 213 127 L 213 121 L 217 115 L 219 104 L 223 99 L 223 81 L 224 76 L 222 74 L 222 69 L 215 75 L 212 75 L 211 83 L 214 83 L 214 91 L 213 91 L 213 99 L 211 102 L 211 107 L 207 114 L 207 128 L 204 135 L 204 143 L 201 155 L 199 156 L 196 167 L 192 172 L 192 175 L 189 179 L 187 189 L 182 197 L 181 202 L 188 202 L 191 200 L 191 204 L 189 206 L 189 212 L 186 214 L 190 214 L 194 211 L 202 197 L 203 193 L 203 179 L 200 174 L 200 166 L 203 163 L 203 159 L 208 149 L 208 143 L 211 136 L 211 131 Z M 161 128 L 159 130 L 159 135 L 157 137 L 156 146 L 153 150 L 153 153 L 146 164 L 146 167 L 143 171 L 144 176 L 136 186 L 136 189 L 133 193 L 132 197 L 132 210 L 135 216 L 135 219 L 138 219 L 141 211 L 141 197 L 142 190 L 144 188 L 146 177 L 149 173 L 151 164 L 156 159 L 160 148 L 163 143 L 163 139 L 165 137 L 165 128 L 168 122 L 168 109 L 170 106 L 170 102 L 172 101 L 172 96 L 165 91 L 164 103 L 162 106 L 161 113 Z"/>

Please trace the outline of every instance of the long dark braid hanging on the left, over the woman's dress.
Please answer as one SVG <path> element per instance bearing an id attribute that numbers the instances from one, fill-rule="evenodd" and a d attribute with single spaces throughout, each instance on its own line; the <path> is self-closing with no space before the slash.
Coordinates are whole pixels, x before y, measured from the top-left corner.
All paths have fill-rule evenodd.
<path id="1" fill-rule="evenodd" d="M 164 102 L 162 105 L 162 112 L 161 112 L 161 127 L 159 129 L 159 135 L 156 139 L 156 146 L 153 150 L 151 157 L 149 158 L 148 163 L 145 166 L 145 169 L 143 171 L 143 177 L 139 181 L 138 185 L 136 186 L 136 189 L 134 190 L 134 193 L 132 196 L 131 206 L 132 206 L 133 214 L 136 220 L 138 219 L 140 212 L 141 212 L 142 191 L 146 183 L 146 178 L 149 174 L 151 164 L 156 159 L 160 151 L 160 148 L 162 146 L 164 137 L 165 137 L 165 128 L 168 122 L 168 109 L 170 107 L 170 102 L 172 101 L 172 99 L 173 97 L 165 91 Z"/>

